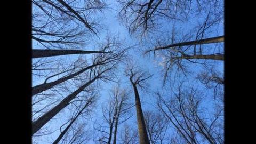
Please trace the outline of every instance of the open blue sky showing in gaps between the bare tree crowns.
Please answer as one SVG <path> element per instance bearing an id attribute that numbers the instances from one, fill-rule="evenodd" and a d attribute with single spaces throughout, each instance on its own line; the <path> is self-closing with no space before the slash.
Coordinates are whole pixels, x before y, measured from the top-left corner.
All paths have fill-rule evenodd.
<path id="1" fill-rule="evenodd" d="M 110 4 L 109 7 L 111 7 L 110 10 L 106 10 L 104 11 L 103 17 L 105 17 L 104 20 L 102 20 L 102 23 L 106 26 L 105 28 L 108 29 L 109 32 L 111 32 L 110 34 L 119 34 L 119 37 L 121 39 L 125 39 L 125 41 L 123 41 L 124 44 L 127 45 L 134 45 L 134 44 L 139 44 L 136 49 L 132 49 L 131 51 L 129 51 L 129 55 L 131 55 L 133 61 L 136 63 L 136 65 L 143 67 L 144 70 L 149 71 L 150 74 L 153 74 L 154 76 L 151 77 L 150 79 L 148 79 L 147 83 L 150 85 L 149 89 L 153 92 L 159 90 L 159 91 L 165 91 L 162 89 L 162 74 L 161 74 L 161 70 L 162 70 L 162 66 L 159 65 L 159 62 L 161 62 L 161 58 L 158 57 L 153 57 L 153 55 L 143 55 L 141 49 L 145 50 L 147 47 L 151 47 L 150 43 L 140 43 L 140 41 L 138 41 L 137 38 L 135 38 L 134 36 L 130 36 L 129 35 L 129 31 L 123 26 L 121 25 L 121 23 L 118 21 L 117 18 L 117 12 L 119 10 L 119 7 L 116 6 L 116 2 L 115 1 L 106 1 L 106 3 Z M 202 17 L 204 18 L 204 17 Z M 190 22 L 187 22 L 185 24 L 181 24 L 178 23 L 177 25 L 179 27 L 181 27 L 186 33 L 189 30 L 193 30 L 194 25 L 196 25 L 197 21 L 199 21 L 200 19 L 191 19 Z M 171 30 L 173 26 L 172 22 L 164 22 L 163 23 L 163 27 L 167 30 Z M 221 25 L 216 26 L 215 28 L 216 30 L 213 31 L 212 33 L 210 33 L 209 36 L 220 36 L 223 35 L 223 23 Z M 99 34 L 99 39 L 97 39 L 97 41 L 103 41 L 103 39 L 105 38 L 107 32 L 106 30 L 103 31 L 102 33 Z M 159 35 L 156 33 L 156 35 Z M 164 35 L 163 35 L 164 36 Z M 96 41 L 96 40 L 95 40 Z M 214 46 L 213 44 L 209 44 L 207 45 L 209 47 Z M 37 44 L 36 42 L 33 41 L 33 49 L 40 49 L 42 47 L 42 45 Z M 89 43 L 88 45 L 86 45 L 85 47 L 83 47 L 83 50 L 93 50 L 97 47 L 95 47 L 94 43 Z M 65 64 L 68 63 L 72 63 L 74 62 L 77 58 L 79 57 L 79 55 L 68 55 L 67 56 L 58 56 L 58 57 L 49 57 L 46 58 L 47 60 L 53 60 L 53 59 L 61 59 L 63 58 L 63 62 Z M 90 55 L 85 55 L 84 56 L 86 59 L 90 60 Z M 36 59 L 33 59 L 33 62 L 37 61 Z M 122 66 L 121 66 L 122 67 Z M 222 71 L 223 73 L 223 62 L 217 62 L 217 64 L 215 65 L 215 67 L 218 67 L 219 71 Z M 193 70 L 193 75 L 191 77 L 195 77 L 196 74 L 202 70 L 202 67 L 200 66 L 191 66 L 190 67 L 191 70 Z M 121 79 L 121 86 L 125 89 L 130 89 L 132 90 L 132 87 L 130 85 L 129 82 L 129 78 L 125 77 L 124 74 L 124 69 L 120 68 L 118 70 L 118 75 L 120 75 L 121 77 L 123 77 Z M 53 81 L 54 79 L 57 79 L 58 77 L 52 78 L 51 81 Z M 181 78 L 181 77 L 180 77 Z M 191 81 L 189 83 L 189 85 L 194 85 L 194 86 L 198 86 L 200 89 L 204 90 L 204 86 L 202 86 L 202 84 L 200 84 L 199 82 L 195 81 L 193 78 L 188 78 L 185 79 L 186 82 Z M 44 78 L 38 78 L 36 76 L 33 76 L 33 86 L 41 84 L 44 82 Z M 108 91 L 109 89 L 111 89 L 111 87 L 115 85 L 113 82 L 108 82 L 108 83 L 102 83 L 101 87 L 100 87 L 100 93 L 99 93 L 99 99 L 97 101 L 98 105 L 97 107 L 94 109 L 94 113 L 92 113 L 91 115 L 91 119 L 86 120 L 87 121 L 87 125 L 88 128 L 90 127 L 90 129 L 92 128 L 92 124 L 93 121 L 95 121 L 95 119 L 97 119 L 98 121 L 100 121 L 101 116 L 102 116 L 102 112 L 101 112 L 101 105 L 102 103 L 105 103 L 105 101 L 107 101 L 107 96 L 108 96 Z M 156 97 L 154 95 L 154 93 L 145 93 L 145 92 L 140 92 L 140 97 L 141 97 L 141 103 L 142 103 L 142 108 L 143 110 L 156 110 L 155 108 L 155 102 L 156 102 Z M 166 93 L 166 92 L 165 92 Z M 209 95 L 212 95 L 212 91 L 207 91 L 207 93 Z M 67 93 L 65 93 L 67 95 Z M 130 93 L 130 97 L 131 97 L 131 101 L 133 101 L 133 91 L 132 93 Z M 59 100 L 61 99 L 61 97 L 58 97 L 55 100 Z M 45 105 L 45 102 L 42 102 L 41 105 L 36 105 L 33 106 L 33 109 L 42 107 L 43 105 Z M 57 104 L 57 103 L 56 103 Z M 205 106 L 210 107 L 211 105 L 211 99 L 209 99 L 209 101 L 205 102 L 204 104 Z M 54 105 L 52 105 L 53 107 Z M 69 106 L 68 106 L 69 107 Z M 49 123 L 47 123 L 44 127 L 47 127 L 52 130 L 55 131 L 52 134 L 49 135 L 44 135 L 42 137 L 35 137 L 33 138 L 33 141 L 36 141 L 38 143 L 42 143 L 42 144 L 46 144 L 46 143 L 51 143 L 53 142 L 59 135 L 59 127 L 63 124 L 67 122 L 67 118 L 69 118 L 68 116 L 63 116 L 63 115 L 69 115 L 69 108 L 66 107 L 65 110 L 62 110 L 57 116 L 54 117 L 54 119 L 52 119 Z M 48 109 L 50 109 L 51 107 L 49 107 Z M 134 129 L 137 129 L 137 125 L 135 125 L 135 121 L 136 121 L 136 116 L 135 116 L 135 108 L 133 108 L 132 113 L 134 114 L 134 116 L 132 118 L 130 118 L 126 123 L 127 124 L 133 124 L 134 125 Z M 82 121 L 81 119 L 79 121 Z M 122 130 L 122 126 L 120 127 L 119 130 Z M 171 132 L 169 132 L 171 133 Z M 89 143 L 94 143 L 94 142 L 89 142 Z"/>

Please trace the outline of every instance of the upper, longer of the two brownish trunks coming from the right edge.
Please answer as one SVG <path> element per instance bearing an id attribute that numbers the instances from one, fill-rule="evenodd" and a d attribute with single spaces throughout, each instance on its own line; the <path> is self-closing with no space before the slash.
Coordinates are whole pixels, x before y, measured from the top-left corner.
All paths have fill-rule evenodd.
<path id="1" fill-rule="evenodd" d="M 149 50 L 147 52 L 156 51 L 156 50 L 170 49 L 171 47 L 175 47 L 175 46 L 210 44 L 210 43 L 220 43 L 220 42 L 224 42 L 224 36 L 205 38 L 205 39 L 200 39 L 200 40 L 197 40 L 197 41 L 189 41 L 189 42 L 183 42 L 183 43 L 176 43 L 176 44 L 166 45 L 164 47 L 156 47 L 154 50 Z"/>

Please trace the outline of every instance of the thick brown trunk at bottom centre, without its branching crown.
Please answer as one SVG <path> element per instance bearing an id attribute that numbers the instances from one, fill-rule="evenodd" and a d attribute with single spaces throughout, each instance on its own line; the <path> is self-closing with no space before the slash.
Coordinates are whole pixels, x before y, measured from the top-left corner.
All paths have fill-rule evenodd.
<path id="1" fill-rule="evenodd" d="M 138 122 L 138 130 L 139 130 L 139 137 L 140 137 L 140 144 L 150 144 L 148 139 L 148 134 L 146 130 L 146 124 L 144 121 L 141 103 L 140 103 L 140 97 L 137 90 L 137 87 L 135 84 L 133 84 L 133 90 L 135 94 L 135 106 L 136 106 L 136 112 L 137 112 L 137 122 Z"/>

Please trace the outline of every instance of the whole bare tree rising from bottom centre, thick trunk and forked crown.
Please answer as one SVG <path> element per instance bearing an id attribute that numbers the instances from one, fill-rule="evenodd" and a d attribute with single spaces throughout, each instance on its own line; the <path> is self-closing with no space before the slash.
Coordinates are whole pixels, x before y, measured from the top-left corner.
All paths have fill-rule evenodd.
<path id="1" fill-rule="evenodd" d="M 149 75 L 145 72 L 143 73 L 140 70 L 134 70 L 133 66 L 128 67 L 126 69 L 126 75 L 129 76 L 130 82 L 134 90 L 140 144 L 149 144 L 149 138 L 147 134 L 145 119 L 143 116 L 137 85 L 142 87 L 142 83 L 145 82 L 152 75 Z"/>

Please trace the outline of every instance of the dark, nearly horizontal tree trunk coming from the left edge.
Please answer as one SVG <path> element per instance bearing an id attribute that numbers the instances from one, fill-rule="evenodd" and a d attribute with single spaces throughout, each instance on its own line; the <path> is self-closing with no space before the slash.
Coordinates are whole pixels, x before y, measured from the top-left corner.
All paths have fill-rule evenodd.
<path id="1" fill-rule="evenodd" d="M 68 54 L 90 54 L 90 53 L 104 53 L 101 51 L 82 51 L 82 50 L 32 50 L 32 58 L 52 57 L 58 55 Z"/>

